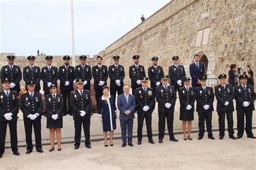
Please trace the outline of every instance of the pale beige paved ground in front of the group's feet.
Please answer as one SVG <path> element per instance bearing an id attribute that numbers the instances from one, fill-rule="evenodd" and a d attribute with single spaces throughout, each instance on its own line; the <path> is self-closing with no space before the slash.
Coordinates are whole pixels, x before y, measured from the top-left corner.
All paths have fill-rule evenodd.
<path id="1" fill-rule="evenodd" d="M 256 134 L 256 130 L 253 130 Z M 214 132 L 218 137 L 218 132 Z M 256 140 L 247 138 L 224 140 L 197 140 L 197 133 L 192 134 L 194 140 L 184 141 L 183 135 L 177 134 L 178 143 L 169 141 L 165 136 L 164 143 L 147 143 L 134 147 L 121 147 L 121 140 L 114 140 L 113 147 L 104 147 L 103 141 L 92 143 L 87 149 L 81 144 L 79 150 L 73 150 L 72 144 L 63 144 L 62 151 L 48 152 L 49 146 L 43 146 L 44 153 L 34 151 L 26 155 L 25 148 L 19 148 L 21 155 L 12 155 L 6 149 L 0 159 L 0 169 L 255 169 Z"/>

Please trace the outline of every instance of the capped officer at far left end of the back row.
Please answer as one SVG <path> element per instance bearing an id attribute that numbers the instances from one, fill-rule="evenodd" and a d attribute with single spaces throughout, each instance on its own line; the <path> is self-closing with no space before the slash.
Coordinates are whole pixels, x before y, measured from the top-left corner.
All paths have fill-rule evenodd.
<path id="1" fill-rule="evenodd" d="M 15 56 L 6 56 L 8 59 L 8 65 L 3 66 L 1 69 L 1 80 L 4 78 L 9 78 L 11 80 L 10 90 L 16 91 L 19 94 L 21 87 L 19 87 L 19 82 L 22 80 L 21 68 L 14 65 Z"/>

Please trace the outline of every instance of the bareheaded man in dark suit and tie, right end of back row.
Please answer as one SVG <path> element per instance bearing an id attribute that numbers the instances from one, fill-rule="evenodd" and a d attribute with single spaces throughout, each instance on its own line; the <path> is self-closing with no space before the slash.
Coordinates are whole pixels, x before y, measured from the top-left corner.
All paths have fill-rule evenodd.
<path id="1" fill-rule="evenodd" d="M 200 87 L 199 78 L 205 74 L 205 66 L 199 62 L 199 55 L 194 54 L 194 62 L 190 65 L 190 76 L 192 77 L 192 87 Z"/>

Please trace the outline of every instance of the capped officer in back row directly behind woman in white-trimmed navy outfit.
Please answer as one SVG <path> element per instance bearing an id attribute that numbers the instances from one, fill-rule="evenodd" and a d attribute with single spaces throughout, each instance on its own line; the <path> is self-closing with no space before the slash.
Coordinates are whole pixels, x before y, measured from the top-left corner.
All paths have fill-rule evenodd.
<path id="1" fill-rule="evenodd" d="M 102 65 L 102 57 L 97 56 L 97 65 L 92 67 L 92 77 L 94 79 L 94 89 L 95 89 L 95 97 L 97 101 L 98 108 L 98 100 L 102 97 L 102 87 L 107 84 L 107 78 L 109 77 L 109 73 L 107 72 L 107 66 Z"/>

